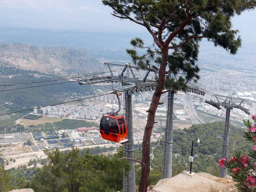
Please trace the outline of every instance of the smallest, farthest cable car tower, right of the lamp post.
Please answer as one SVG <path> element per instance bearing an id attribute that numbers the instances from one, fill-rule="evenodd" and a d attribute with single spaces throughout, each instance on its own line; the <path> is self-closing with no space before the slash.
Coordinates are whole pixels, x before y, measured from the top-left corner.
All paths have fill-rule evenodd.
<path id="1" fill-rule="evenodd" d="M 226 109 L 226 118 L 225 118 L 225 127 L 224 127 L 224 135 L 223 135 L 223 144 L 222 144 L 222 151 L 221 151 L 221 158 L 226 158 L 228 157 L 228 143 L 229 143 L 229 125 L 230 125 L 230 111 L 233 108 L 238 108 L 241 111 L 244 111 L 244 113 L 250 115 L 250 112 L 241 106 L 242 102 L 244 102 L 244 99 L 239 99 L 239 98 L 233 98 L 233 97 L 228 97 L 228 96 L 221 96 L 221 95 L 214 95 L 217 99 L 218 102 L 213 102 L 212 100 L 210 101 L 205 101 L 207 104 L 212 105 L 213 107 L 217 108 L 220 110 L 220 106 L 224 107 Z M 221 97 L 225 98 L 223 99 L 224 102 L 220 102 L 219 99 Z M 239 105 L 236 104 L 236 101 L 241 101 Z M 219 177 L 227 177 L 227 167 L 220 167 L 219 170 Z"/>

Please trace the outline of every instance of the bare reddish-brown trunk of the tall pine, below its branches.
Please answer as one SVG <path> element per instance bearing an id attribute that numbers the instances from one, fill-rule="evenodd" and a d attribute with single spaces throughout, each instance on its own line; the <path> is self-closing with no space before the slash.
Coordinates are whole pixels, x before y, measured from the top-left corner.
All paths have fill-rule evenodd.
<path id="1" fill-rule="evenodd" d="M 145 127 L 142 143 L 142 165 L 139 192 L 147 192 L 148 177 L 150 171 L 150 138 L 154 126 L 154 117 L 157 111 L 157 106 L 162 95 L 165 81 L 166 64 L 168 60 L 168 48 L 162 51 L 162 64 L 159 69 L 159 83 L 151 100 L 150 108 L 148 109 L 148 120 Z"/>

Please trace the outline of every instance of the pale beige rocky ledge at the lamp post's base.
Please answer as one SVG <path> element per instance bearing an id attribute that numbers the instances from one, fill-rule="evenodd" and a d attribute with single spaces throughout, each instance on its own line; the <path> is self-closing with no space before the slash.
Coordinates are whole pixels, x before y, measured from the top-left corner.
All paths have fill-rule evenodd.
<path id="1" fill-rule="evenodd" d="M 170 179 L 160 180 L 149 192 L 236 192 L 234 182 L 230 178 L 219 178 L 207 173 L 187 174 L 184 171 Z"/>

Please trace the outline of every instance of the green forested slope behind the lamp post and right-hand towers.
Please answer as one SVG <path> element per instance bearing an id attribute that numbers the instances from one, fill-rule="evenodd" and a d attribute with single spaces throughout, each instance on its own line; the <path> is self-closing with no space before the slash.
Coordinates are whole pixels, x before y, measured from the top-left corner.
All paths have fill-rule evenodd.
<path id="1" fill-rule="evenodd" d="M 218 176 L 219 167 L 218 160 L 221 158 L 221 150 L 223 138 L 216 137 L 224 133 L 224 122 L 212 122 L 206 124 L 192 125 L 190 128 L 173 131 L 173 170 L 172 175 L 177 175 L 183 170 L 189 170 L 190 163 L 188 161 L 191 155 L 192 140 L 200 139 L 200 143 L 194 142 L 193 154 L 198 157 L 194 159 L 192 164 L 193 172 L 207 172 Z M 252 144 L 243 137 L 245 129 L 230 126 L 229 134 L 229 157 L 235 151 L 242 151 L 247 154 L 248 149 L 252 148 Z M 163 161 L 163 144 L 161 138 L 158 142 L 151 143 L 151 172 L 150 184 L 155 184 L 161 178 L 162 161 Z M 135 145 L 135 156 L 141 159 L 141 144 Z M 154 150 L 152 150 L 154 148 Z M 152 155 L 153 154 L 153 155 Z M 140 169 L 138 167 L 138 169 Z M 137 171 L 140 174 L 140 171 Z M 137 183 L 139 176 L 137 175 Z"/>

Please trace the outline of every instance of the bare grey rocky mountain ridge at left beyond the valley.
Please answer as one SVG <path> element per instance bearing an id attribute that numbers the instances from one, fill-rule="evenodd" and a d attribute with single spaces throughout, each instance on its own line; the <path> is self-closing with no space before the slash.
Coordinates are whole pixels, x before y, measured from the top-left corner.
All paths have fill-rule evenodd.
<path id="1" fill-rule="evenodd" d="M 55 47 L 43 49 L 28 44 L 0 44 L 0 66 L 44 73 L 94 72 L 103 65 L 85 49 Z"/>

